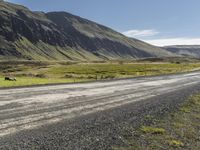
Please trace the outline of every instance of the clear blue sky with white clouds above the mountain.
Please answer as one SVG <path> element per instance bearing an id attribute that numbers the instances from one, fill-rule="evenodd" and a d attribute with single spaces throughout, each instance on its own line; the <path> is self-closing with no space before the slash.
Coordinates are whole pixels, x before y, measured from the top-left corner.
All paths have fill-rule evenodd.
<path id="1" fill-rule="evenodd" d="M 67 11 L 154 45 L 200 45 L 200 0 L 8 0 Z"/>

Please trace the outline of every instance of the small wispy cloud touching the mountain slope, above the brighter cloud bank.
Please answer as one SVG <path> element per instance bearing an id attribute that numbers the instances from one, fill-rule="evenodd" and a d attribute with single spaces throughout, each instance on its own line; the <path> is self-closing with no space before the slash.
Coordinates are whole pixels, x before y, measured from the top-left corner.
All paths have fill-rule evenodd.
<path id="1" fill-rule="evenodd" d="M 159 34 L 158 31 L 150 29 L 150 30 L 128 30 L 123 32 L 125 36 L 132 38 L 140 38 L 140 37 L 149 37 Z"/>

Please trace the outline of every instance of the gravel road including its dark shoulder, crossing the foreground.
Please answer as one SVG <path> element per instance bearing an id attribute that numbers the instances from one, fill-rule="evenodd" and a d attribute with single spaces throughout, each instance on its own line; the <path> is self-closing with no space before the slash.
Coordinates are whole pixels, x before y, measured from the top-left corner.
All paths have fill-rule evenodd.
<path id="1" fill-rule="evenodd" d="M 0 90 L 0 149 L 111 149 L 200 92 L 200 72 Z"/>

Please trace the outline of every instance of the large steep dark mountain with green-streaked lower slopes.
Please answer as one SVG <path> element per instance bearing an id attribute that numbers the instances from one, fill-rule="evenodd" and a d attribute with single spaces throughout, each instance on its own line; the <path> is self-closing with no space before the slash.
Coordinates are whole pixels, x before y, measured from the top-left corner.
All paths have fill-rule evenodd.
<path id="1" fill-rule="evenodd" d="M 0 0 L 0 60 L 112 60 L 174 54 L 66 12 Z"/>

